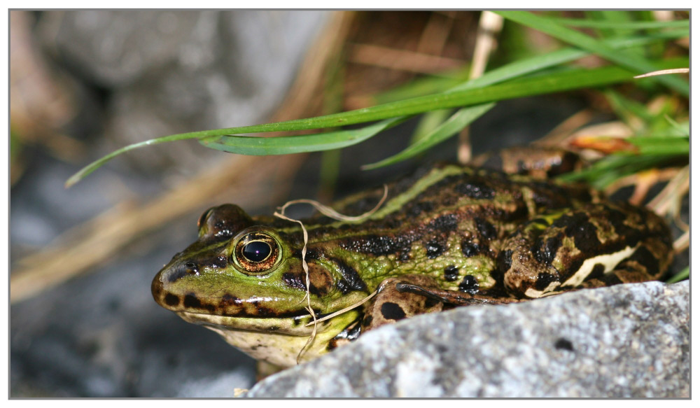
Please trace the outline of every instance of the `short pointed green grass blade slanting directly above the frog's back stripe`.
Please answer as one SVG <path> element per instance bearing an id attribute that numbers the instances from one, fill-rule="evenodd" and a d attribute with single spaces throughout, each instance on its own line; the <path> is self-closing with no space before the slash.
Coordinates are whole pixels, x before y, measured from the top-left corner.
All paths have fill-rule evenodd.
<path id="1" fill-rule="evenodd" d="M 444 139 L 449 138 L 449 136 L 461 131 L 461 129 L 464 129 L 465 126 L 469 125 L 471 122 L 479 118 L 479 116 L 489 111 L 491 108 L 493 108 L 493 106 L 496 106 L 496 104 L 491 103 L 462 108 L 454 113 L 454 115 L 451 115 L 451 117 L 443 122 L 440 127 L 437 127 L 435 130 L 433 130 L 433 132 L 430 132 L 430 134 L 423 136 L 423 138 L 416 143 L 413 143 L 411 146 L 408 146 L 405 148 L 405 150 L 402 150 L 400 153 L 387 157 L 379 162 L 365 164 L 362 169 L 377 169 L 379 167 L 388 166 L 389 164 L 394 164 L 409 157 L 413 157 L 426 149 L 435 146 L 437 143 L 444 141 Z"/>

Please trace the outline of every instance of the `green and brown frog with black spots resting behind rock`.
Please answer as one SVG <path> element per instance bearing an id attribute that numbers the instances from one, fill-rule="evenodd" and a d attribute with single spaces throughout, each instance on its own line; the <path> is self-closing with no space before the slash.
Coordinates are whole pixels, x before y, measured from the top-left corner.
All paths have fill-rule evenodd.
<path id="1" fill-rule="evenodd" d="M 288 367 L 416 314 L 666 272 L 673 251 L 664 220 L 587 185 L 547 178 L 570 169 L 561 160 L 570 153 L 549 157 L 557 165 L 546 168 L 534 153 L 482 162 L 515 158 L 510 174 L 454 164 L 420 169 L 388 185 L 386 202 L 363 220 L 303 220 L 308 275 L 297 223 L 216 206 L 200 218 L 197 241 L 155 276 L 153 297 L 253 358 Z M 357 215 L 383 194 L 372 189 L 333 208 Z"/>

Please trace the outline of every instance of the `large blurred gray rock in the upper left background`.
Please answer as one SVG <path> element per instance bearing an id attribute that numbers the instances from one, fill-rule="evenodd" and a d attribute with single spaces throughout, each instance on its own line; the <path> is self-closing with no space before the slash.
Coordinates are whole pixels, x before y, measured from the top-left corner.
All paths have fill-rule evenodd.
<path id="1" fill-rule="evenodd" d="M 167 134 L 266 122 L 283 101 L 323 10 L 55 10 L 43 47 L 109 91 L 107 154 Z M 194 147 L 194 148 L 193 148 Z M 195 174 L 224 155 L 165 143 L 128 158 L 145 171 Z"/>

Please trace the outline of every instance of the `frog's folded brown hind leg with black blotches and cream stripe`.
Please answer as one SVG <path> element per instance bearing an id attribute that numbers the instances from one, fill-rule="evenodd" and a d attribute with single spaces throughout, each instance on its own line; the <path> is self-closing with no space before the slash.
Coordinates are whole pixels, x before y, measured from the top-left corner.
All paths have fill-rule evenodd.
<path id="1" fill-rule="evenodd" d="M 671 233 L 659 216 L 608 202 L 529 221 L 505 241 L 498 263 L 507 290 L 535 298 L 659 279 L 672 257 Z"/>

